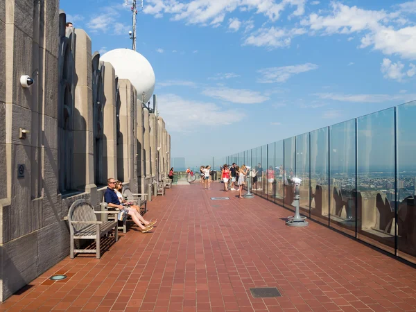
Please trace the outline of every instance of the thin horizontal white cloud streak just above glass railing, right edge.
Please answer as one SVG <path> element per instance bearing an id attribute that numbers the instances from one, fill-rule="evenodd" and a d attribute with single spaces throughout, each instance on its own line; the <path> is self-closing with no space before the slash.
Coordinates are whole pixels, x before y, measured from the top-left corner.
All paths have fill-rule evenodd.
<path id="1" fill-rule="evenodd" d="M 335 93 L 317 93 L 313 94 L 324 100 L 333 100 L 351 103 L 383 103 L 388 101 L 412 101 L 416 94 L 335 94 Z"/>

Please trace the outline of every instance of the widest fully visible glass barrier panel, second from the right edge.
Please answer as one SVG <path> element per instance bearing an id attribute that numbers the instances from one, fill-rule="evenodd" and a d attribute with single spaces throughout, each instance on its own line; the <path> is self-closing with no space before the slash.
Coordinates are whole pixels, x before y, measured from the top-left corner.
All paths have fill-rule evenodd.
<path id="1" fill-rule="evenodd" d="M 357 235 L 395 253 L 395 109 L 357 119 Z"/>

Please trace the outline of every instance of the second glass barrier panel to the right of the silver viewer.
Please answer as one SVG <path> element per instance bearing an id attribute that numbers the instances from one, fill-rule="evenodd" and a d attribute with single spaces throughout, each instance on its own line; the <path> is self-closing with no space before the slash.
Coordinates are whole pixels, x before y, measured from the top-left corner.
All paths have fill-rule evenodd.
<path id="1" fill-rule="evenodd" d="M 328 225 L 329 128 L 311 132 L 311 218 Z"/>

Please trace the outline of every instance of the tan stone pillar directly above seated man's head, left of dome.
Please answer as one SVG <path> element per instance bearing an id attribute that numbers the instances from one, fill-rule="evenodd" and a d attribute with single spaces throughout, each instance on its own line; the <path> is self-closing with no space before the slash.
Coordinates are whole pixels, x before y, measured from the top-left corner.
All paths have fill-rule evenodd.
<path id="1" fill-rule="evenodd" d="M 107 179 L 117 176 L 116 73 L 109 62 L 104 67 L 103 177 Z"/>

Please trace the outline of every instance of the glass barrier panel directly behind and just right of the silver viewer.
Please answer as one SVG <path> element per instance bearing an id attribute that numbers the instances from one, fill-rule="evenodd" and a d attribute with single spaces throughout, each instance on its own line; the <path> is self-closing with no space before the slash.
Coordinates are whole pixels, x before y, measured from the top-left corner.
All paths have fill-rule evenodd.
<path id="1" fill-rule="evenodd" d="M 309 216 L 309 132 L 296 137 L 296 177 L 300 177 L 300 213 Z"/>

